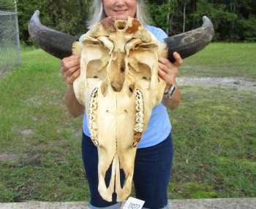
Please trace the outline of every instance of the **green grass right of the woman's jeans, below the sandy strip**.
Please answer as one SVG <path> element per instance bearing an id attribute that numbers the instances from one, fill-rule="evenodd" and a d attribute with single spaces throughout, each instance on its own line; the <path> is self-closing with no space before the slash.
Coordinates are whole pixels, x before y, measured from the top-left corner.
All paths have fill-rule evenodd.
<path id="1" fill-rule="evenodd" d="M 255 197 L 256 98 L 182 87 L 171 112 L 176 149 L 170 198 Z"/>

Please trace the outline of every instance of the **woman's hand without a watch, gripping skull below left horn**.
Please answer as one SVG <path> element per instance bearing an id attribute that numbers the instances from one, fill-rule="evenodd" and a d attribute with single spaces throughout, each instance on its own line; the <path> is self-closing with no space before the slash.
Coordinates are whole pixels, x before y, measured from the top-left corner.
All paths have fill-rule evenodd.
<path id="1" fill-rule="evenodd" d="M 80 75 L 80 59 L 78 55 L 71 55 L 61 60 L 61 74 L 67 84 L 73 84 Z"/>

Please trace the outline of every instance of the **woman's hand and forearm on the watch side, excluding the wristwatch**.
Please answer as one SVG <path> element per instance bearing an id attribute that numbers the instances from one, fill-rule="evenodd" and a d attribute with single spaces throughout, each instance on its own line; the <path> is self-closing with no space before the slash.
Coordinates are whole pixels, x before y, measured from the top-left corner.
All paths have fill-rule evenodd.
<path id="1" fill-rule="evenodd" d="M 178 67 L 182 64 L 182 58 L 177 53 L 173 53 L 175 58 L 174 63 L 170 63 L 166 58 L 158 58 L 158 75 L 166 82 L 165 93 L 170 90 L 170 86 L 176 84 L 176 76 L 178 74 Z M 169 109 L 175 109 L 181 100 L 181 92 L 176 86 L 176 91 L 174 92 L 172 98 L 162 98 L 162 103 Z"/>

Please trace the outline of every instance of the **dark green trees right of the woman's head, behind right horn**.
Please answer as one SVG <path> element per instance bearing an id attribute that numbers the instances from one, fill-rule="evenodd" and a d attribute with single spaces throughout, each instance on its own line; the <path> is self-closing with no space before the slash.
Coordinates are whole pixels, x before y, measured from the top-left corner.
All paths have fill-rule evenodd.
<path id="1" fill-rule="evenodd" d="M 202 17 L 206 15 L 214 23 L 214 40 L 227 42 L 255 41 L 255 7 L 256 2 L 253 0 L 165 0 L 148 3 L 153 24 L 169 31 L 170 35 L 181 33 L 183 29 L 190 31 L 200 27 Z M 185 28 L 183 28 L 183 22 L 185 22 Z"/>

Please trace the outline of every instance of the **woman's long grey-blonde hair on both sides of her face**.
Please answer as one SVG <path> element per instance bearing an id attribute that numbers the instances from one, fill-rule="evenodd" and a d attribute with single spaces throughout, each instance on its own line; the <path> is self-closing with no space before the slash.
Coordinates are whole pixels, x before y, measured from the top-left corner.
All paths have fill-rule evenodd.
<path id="1" fill-rule="evenodd" d="M 149 25 L 150 18 L 147 14 L 148 12 L 143 0 L 137 0 L 135 18 L 138 19 L 143 25 Z M 97 23 L 100 23 L 100 21 L 105 17 L 107 16 L 104 11 L 102 0 L 94 0 L 91 5 L 91 17 L 87 22 L 87 28 L 92 28 Z"/>

